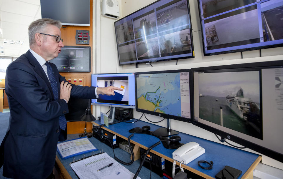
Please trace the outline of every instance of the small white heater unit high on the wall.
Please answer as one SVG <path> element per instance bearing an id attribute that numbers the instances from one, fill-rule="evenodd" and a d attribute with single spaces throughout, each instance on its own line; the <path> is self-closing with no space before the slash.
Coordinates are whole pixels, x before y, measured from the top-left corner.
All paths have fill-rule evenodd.
<path id="1" fill-rule="evenodd" d="M 101 14 L 106 17 L 118 19 L 120 17 L 120 9 L 116 0 L 102 0 Z"/>

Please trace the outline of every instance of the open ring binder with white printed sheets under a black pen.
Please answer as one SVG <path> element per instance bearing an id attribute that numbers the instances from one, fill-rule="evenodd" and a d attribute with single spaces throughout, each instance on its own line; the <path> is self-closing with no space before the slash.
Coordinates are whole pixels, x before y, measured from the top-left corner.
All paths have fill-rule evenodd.
<path id="1" fill-rule="evenodd" d="M 107 169 L 97 171 L 111 163 L 113 163 L 113 165 L 107 167 Z M 80 179 L 132 179 L 135 175 L 111 158 L 107 153 L 85 158 L 78 162 L 71 163 L 70 166 Z M 141 179 L 139 177 L 137 178 Z"/>

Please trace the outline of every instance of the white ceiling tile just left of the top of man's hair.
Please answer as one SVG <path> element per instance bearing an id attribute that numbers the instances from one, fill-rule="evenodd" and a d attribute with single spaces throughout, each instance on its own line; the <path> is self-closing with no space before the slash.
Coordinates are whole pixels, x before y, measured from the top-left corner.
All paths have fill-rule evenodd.
<path id="1" fill-rule="evenodd" d="M 24 16 L 24 15 L 19 15 L 4 11 L 0 11 L 0 14 L 1 14 L 1 21 L 12 22 L 17 24 L 29 25 L 34 19 L 34 17 Z"/>

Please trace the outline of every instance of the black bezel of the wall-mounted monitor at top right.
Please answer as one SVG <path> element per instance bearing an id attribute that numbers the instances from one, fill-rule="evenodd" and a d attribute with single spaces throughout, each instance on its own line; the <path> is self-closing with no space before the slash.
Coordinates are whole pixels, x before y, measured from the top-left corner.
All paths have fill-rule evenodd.
<path id="1" fill-rule="evenodd" d="M 236 50 L 228 50 L 228 51 L 220 51 L 220 52 L 213 52 L 213 53 L 205 53 L 205 45 L 204 45 L 204 36 L 203 36 L 203 24 L 201 20 L 201 11 L 200 11 L 200 0 L 198 0 L 198 14 L 200 17 L 200 29 L 201 29 L 201 36 L 202 36 L 202 46 L 203 46 L 203 56 L 211 56 L 211 55 L 221 55 L 226 53 L 236 53 L 236 52 L 244 52 L 244 51 L 252 51 L 252 50 L 261 50 L 266 48 L 276 48 L 276 47 L 282 47 L 282 44 L 273 44 L 273 45 L 264 45 L 264 46 L 258 46 L 258 47 L 250 47 L 250 48 L 239 48 Z"/>

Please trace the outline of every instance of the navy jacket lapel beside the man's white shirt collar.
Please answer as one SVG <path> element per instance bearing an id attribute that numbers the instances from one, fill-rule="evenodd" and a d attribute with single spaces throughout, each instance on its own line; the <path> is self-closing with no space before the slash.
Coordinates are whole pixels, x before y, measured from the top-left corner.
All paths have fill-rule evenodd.
<path id="1" fill-rule="evenodd" d="M 27 53 L 25 53 L 25 56 L 29 60 L 29 63 L 31 63 L 34 66 L 34 68 L 33 68 L 34 71 L 45 81 L 49 90 L 51 91 L 52 99 L 54 99 L 51 84 L 50 84 L 44 70 L 42 69 L 42 66 L 40 66 L 40 64 L 38 63 L 36 58 L 32 55 L 32 53 L 29 50 L 27 51 Z"/>

